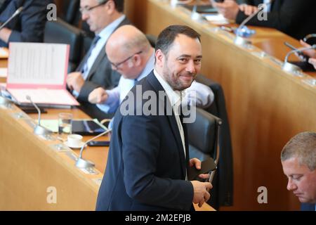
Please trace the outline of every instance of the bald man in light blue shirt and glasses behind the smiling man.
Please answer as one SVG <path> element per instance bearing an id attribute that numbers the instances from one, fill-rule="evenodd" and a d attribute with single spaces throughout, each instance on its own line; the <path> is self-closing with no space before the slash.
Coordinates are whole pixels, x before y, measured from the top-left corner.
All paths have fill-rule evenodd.
<path id="1" fill-rule="evenodd" d="M 106 53 L 112 69 L 122 75 L 119 85 L 112 90 L 99 87 L 91 92 L 88 100 L 97 103 L 98 108 L 103 112 L 114 113 L 134 84 L 153 70 L 154 49 L 145 34 L 136 27 L 124 25 L 119 27 L 107 41 Z M 213 92 L 209 86 L 194 81 L 185 90 L 184 101 L 206 108 L 213 102 Z"/>

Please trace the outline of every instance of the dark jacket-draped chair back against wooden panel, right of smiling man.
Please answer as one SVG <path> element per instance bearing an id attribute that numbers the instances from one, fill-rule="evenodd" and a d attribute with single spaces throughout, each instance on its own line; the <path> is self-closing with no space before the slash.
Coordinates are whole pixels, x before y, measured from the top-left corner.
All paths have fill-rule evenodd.
<path id="1" fill-rule="evenodd" d="M 230 125 L 225 106 L 225 96 L 220 84 L 213 82 L 203 75 L 198 75 L 196 80 L 197 82 L 209 86 L 214 93 L 214 101 L 212 105 L 204 110 L 222 120 L 218 143 L 220 146 L 220 158 L 218 160 L 218 169 L 212 183 L 212 198 L 209 200 L 209 204 L 218 209 L 220 206 L 231 206 L 233 199 L 233 165 Z"/>

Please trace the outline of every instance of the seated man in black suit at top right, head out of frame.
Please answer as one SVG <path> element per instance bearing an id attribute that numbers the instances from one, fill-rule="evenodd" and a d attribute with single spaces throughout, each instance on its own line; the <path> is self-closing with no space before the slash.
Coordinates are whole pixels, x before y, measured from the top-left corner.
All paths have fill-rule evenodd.
<path id="1" fill-rule="evenodd" d="M 213 2 L 213 0 L 211 0 Z M 303 39 L 305 35 L 316 32 L 316 1 L 288 1 L 288 0 L 246 0 L 246 5 L 238 5 L 234 0 L 223 3 L 212 3 L 225 18 L 242 23 L 251 13 L 258 10 L 257 6 L 268 4 L 268 20 L 258 20 L 255 16 L 247 25 L 272 27 L 296 39 Z"/>

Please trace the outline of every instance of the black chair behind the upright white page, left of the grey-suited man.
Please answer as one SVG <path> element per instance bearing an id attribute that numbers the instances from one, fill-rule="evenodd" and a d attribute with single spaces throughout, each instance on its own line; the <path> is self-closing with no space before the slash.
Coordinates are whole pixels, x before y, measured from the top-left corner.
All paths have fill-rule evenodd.
<path id="1" fill-rule="evenodd" d="M 77 68 L 81 60 L 81 30 L 60 18 L 56 21 L 48 21 L 44 31 L 44 42 L 70 44 L 68 72 L 72 72 Z"/>

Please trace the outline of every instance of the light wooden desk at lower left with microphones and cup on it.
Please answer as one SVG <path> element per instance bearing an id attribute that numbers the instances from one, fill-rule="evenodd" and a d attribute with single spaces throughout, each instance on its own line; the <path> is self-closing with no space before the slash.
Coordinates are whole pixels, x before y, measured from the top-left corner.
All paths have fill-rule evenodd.
<path id="1" fill-rule="evenodd" d="M 75 119 L 88 118 L 77 109 L 49 109 L 42 118 L 56 119 L 61 112 L 72 113 Z M 0 210 L 95 210 L 108 148 L 84 150 L 83 158 L 95 162 L 98 173 L 86 174 L 74 166 L 71 158 L 78 156 L 79 150 L 53 148 L 61 142 L 44 140 L 33 134 L 30 125 L 37 115 L 29 117 L 21 113 L 15 106 L 4 109 L 0 105 Z M 89 137 L 85 136 L 84 140 L 87 139 Z M 50 187 L 56 188 L 56 204 L 47 203 Z M 213 211 L 207 204 L 195 207 L 199 211 Z"/>

